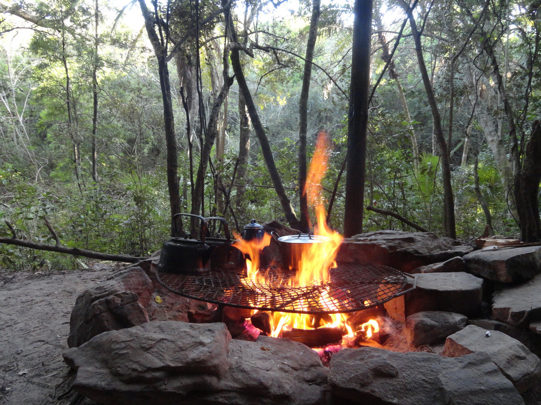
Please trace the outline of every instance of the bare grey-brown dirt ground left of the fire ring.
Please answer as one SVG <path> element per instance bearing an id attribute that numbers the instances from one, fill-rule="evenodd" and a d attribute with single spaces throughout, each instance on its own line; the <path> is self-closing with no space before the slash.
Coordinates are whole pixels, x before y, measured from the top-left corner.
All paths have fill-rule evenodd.
<path id="1" fill-rule="evenodd" d="M 71 309 L 81 292 L 124 266 L 94 263 L 62 272 L 0 269 L 0 404 L 81 403 L 68 391 L 72 373 L 62 359 Z"/>

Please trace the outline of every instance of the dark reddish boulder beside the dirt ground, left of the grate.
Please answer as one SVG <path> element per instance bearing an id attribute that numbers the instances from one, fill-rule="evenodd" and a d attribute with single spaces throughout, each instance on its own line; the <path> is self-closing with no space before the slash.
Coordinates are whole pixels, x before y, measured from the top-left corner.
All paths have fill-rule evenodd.
<path id="1" fill-rule="evenodd" d="M 84 291 L 71 311 L 68 346 L 77 347 L 105 331 L 148 322 L 145 306 L 153 290 L 141 267 L 131 267 Z"/>

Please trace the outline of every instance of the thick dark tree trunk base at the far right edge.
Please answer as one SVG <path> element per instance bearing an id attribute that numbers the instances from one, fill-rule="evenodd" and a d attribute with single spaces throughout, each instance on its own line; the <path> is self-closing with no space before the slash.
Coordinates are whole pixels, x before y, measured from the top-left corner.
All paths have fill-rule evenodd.
<path id="1" fill-rule="evenodd" d="M 526 243 L 541 240 L 541 221 L 537 199 L 541 181 L 541 125 L 533 122 L 532 135 L 526 146 L 522 171 L 514 179 L 520 236 Z"/>

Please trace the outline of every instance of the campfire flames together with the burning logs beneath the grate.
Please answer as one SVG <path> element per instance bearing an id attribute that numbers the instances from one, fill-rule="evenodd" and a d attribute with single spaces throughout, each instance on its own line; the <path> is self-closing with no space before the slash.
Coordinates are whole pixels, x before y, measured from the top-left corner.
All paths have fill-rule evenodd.
<path id="1" fill-rule="evenodd" d="M 237 238 L 234 246 L 239 249 L 246 259 L 246 278 L 241 284 L 246 288 L 255 289 L 255 297 L 262 291 L 258 285 L 280 284 L 301 290 L 320 288 L 317 302 L 314 297 L 301 298 L 280 308 L 281 311 L 261 312 L 253 310 L 250 319 L 263 333 L 273 337 L 287 337 L 310 346 L 338 342 L 342 338 L 354 341 L 359 338 L 370 338 L 373 332 L 379 331 L 378 322 L 370 319 L 354 330 L 347 322 L 348 314 L 340 312 L 340 300 L 332 295 L 330 288 L 331 269 L 337 268 L 335 257 L 343 237 L 326 224 L 326 211 L 321 195 L 321 179 L 327 169 L 329 147 L 327 134 L 320 132 L 316 142 L 316 150 L 307 176 L 306 194 L 308 204 L 315 208 L 316 225 L 314 236 L 300 234 L 298 236 L 276 237 L 282 254 L 282 267 L 294 272 L 289 277 L 276 279 L 275 274 L 261 266 L 262 252 L 272 238 L 264 233 L 259 238 L 245 240 Z M 346 293 L 349 291 L 346 290 Z M 264 297 L 264 294 L 259 294 Z M 250 303 L 260 307 L 265 298 L 254 298 Z M 364 304 L 370 306 L 365 300 Z M 319 313 L 310 313 L 318 309 Z M 287 312 L 286 312 L 287 311 Z M 291 311 L 291 312 L 290 312 Z M 356 327 L 357 325 L 353 325 Z"/>

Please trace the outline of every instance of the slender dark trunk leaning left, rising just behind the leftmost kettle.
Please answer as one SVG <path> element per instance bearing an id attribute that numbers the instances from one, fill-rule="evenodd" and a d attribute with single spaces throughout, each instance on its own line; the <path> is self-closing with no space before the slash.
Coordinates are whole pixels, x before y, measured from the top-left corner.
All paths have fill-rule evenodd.
<path id="1" fill-rule="evenodd" d="M 156 33 L 154 22 L 159 21 L 159 18 L 152 18 L 144 0 L 139 0 L 139 5 L 143 14 L 148 38 L 154 48 L 154 54 L 158 61 L 158 73 L 160 75 L 160 89 L 162 92 L 163 103 L 163 122 L 167 147 L 167 188 L 169 191 L 169 207 L 171 211 L 171 236 L 180 236 L 182 223 L 180 219 L 178 224 L 175 224 L 173 220 L 173 215 L 181 211 L 181 206 L 179 179 L 177 175 L 178 155 L 176 150 L 175 120 L 173 114 L 173 102 L 171 99 L 171 86 L 169 83 L 169 70 L 166 62 L 167 48 L 166 44 L 163 43 L 163 40 L 160 40 L 160 37 Z M 163 38 L 163 36 L 161 38 Z"/>

